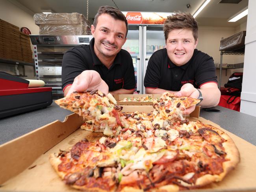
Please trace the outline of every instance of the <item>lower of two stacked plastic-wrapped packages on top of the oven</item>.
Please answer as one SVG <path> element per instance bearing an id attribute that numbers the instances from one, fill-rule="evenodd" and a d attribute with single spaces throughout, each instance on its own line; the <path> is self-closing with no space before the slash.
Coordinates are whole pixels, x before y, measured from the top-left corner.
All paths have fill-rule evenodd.
<path id="1" fill-rule="evenodd" d="M 91 35 L 91 29 L 84 24 L 39 25 L 39 35 Z"/>

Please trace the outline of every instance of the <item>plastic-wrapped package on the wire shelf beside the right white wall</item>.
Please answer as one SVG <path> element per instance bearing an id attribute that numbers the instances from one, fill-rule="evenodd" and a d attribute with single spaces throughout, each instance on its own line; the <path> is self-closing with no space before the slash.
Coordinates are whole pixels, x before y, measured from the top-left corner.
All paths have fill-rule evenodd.
<path id="1" fill-rule="evenodd" d="M 246 31 L 241 31 L 230 37 L 221 40 L 220 51 L 233 51 L 244 52 L 245 51 L 245 35 Z"/>

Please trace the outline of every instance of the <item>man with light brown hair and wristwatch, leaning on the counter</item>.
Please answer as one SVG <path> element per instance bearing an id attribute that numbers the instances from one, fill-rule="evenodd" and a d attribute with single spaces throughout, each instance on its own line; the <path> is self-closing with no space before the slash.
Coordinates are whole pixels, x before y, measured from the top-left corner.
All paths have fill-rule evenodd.
<path id="1" fill-rule="evenodd" d="M 166 48 L 149 59 L 144 79 L 148 94 L 166 90 L 177 96 L 199 98 L 202 107 L 219 103 L 220 91 L 213 58 L 198 51 L 198 25 L 190 13 L 175 13 L 165 20 Z M 186 114 L 195 109 L 191 107 Z"/>

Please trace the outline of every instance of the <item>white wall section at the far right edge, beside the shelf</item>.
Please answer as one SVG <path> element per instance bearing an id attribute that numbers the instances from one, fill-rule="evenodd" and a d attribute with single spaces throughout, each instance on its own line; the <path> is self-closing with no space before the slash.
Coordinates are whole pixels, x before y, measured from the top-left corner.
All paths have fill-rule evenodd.
<path id="1" fill-rule="evenodd" d="M 249 0 L 240 112 L 256 116 L 256 1 Z"/>

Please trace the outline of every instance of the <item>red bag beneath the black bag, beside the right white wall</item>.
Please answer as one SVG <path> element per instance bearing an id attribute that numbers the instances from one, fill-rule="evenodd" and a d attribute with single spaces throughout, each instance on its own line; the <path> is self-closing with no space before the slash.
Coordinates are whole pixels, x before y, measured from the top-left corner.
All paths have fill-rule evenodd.
<path id="1" fill-rule="evenodd" d="M 241 99 L 239 96 L 221 95 L 219 106 L 235 111 L 240 111 Z"/>

